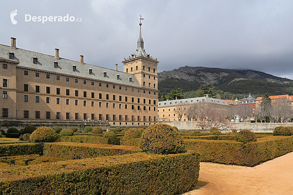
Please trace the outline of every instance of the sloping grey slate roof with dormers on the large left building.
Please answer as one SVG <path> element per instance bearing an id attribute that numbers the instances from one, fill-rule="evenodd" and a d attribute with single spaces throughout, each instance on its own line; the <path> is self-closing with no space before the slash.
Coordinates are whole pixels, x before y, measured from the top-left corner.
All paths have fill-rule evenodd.
<path id="1" fill-rule="evenodd" d="M 46 54 L 40 54 L 33 51 L 28 51 L 24 49 L 11 49 L 10 46 L 0 44 L 0 58 L 9 59 L 9 52 L 14 53 L 14 60 L 19 61 L 18 66 L 39 69 L 47 72 L 54 72 L 57 74 L 64 74 L 76 77 L 83 77 L 89 79 L 97 79 L 106 82 L 114 82 L 117 84 L 130 85 L 133 87 L 140 87 L 135 76 L 129 73 L 116 72 L 115 70 L 94 66 L 90 64 L 81 64 L 79 61 L 73 61 L 69 59 L 55 59 L 55 56 L 50 56 Z M 53 52 L 55 52 L 53 50 Z M 33 58 L 38 58 L 38 63 L 33 63 Z M 58 68 L 54 68 L 54 62 L 58 62 Z M 76 66 L 76 71 L 73 71 L 72 66 Z M 89 74 L 89 69 L 92 69 L 92 74 Z M 104 72 L 106 72 L 107 77 L 104 77 Z M 120 79 L 117 79 L 119 75 Z M 132 81 L 129 82 L 129 78 Z"/>

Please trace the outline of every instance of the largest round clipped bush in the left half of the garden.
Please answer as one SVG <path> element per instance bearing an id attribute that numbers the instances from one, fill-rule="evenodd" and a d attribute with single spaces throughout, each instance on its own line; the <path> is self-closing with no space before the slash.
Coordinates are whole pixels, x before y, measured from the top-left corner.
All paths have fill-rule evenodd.
<path id="1" fill-rule="evenodd" d="M 49 127 L 39 127 L 30 136 L 32 142 L 54 142 L 57 138 L 56 131 Z"/>

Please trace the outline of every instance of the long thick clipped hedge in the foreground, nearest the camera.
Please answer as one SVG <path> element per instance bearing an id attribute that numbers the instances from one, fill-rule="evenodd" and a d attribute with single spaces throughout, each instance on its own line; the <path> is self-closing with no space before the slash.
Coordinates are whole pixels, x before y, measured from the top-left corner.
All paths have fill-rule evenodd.
<path id="1" fill-rule="evenodd" d="M 0 194 L 176 195 L 196 186 L 199 154 L 104 156 L 0 169 Z"/>

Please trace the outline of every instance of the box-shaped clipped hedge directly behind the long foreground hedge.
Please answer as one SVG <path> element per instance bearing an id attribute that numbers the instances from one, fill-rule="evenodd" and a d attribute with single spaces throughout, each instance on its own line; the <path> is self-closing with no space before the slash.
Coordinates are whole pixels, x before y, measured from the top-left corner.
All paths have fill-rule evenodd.
<path id="1" fill-rule="evenodd" d="M 97 156 L 125 155 L 140 152 L 138 147 L 117 146 L 108 144 L 55 142 L 45 143 L 44 156 L 61 157 L 64 159 L 82 159 Z"/>

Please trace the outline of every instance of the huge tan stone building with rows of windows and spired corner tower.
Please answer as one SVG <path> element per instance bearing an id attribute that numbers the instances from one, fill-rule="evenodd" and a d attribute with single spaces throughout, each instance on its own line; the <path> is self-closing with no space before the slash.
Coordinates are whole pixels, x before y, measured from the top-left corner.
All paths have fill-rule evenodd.
<path id="1" fill-rule="evenodd" d="M 0 120 L 108 120 L 111 125 L 150 125 L 157 120 L 157 59 L 137 49 L 124 72 L 0 44 Z"/>

